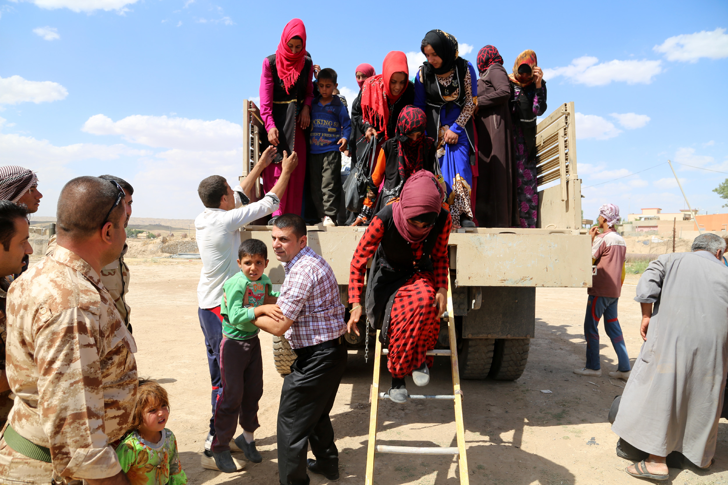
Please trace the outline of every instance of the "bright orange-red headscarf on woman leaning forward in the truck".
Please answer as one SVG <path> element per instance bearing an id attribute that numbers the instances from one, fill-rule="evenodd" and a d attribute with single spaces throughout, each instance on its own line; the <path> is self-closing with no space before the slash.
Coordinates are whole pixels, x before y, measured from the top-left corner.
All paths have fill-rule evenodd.
<path id="1" fill-rule="evenodd" d="M 384 57 L 384 62 L 381 63 L 381 74 L 364 81 L 362 87 L 362 117 L 377 132 L 387 128 L 387 121 L 389 121 L 389 105 L 387 103 L 394 103 L 406 89 L 405 87 L 397 97 L 389 92 L 389 79 L 392 79 L 394 73 L 405 73 L 405 79 L 409 78 L 407 56 L 404 52 L 398 50 L 393 50 L 387 54 L 387 57 Z M 386 134 L 385 138 L 387 138 Z"/>

